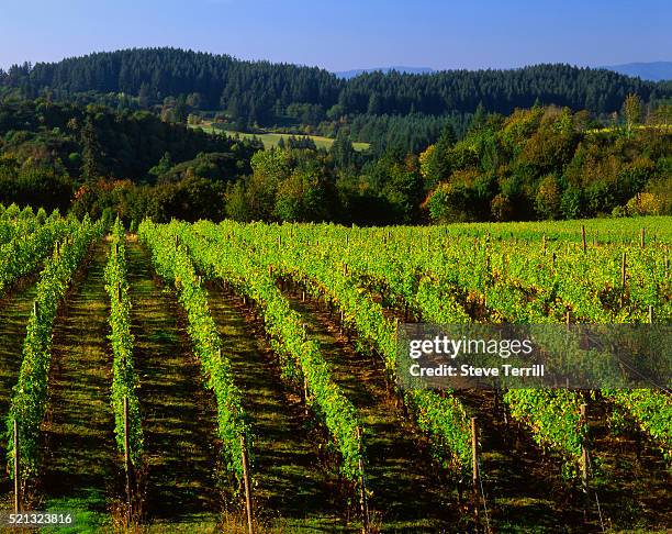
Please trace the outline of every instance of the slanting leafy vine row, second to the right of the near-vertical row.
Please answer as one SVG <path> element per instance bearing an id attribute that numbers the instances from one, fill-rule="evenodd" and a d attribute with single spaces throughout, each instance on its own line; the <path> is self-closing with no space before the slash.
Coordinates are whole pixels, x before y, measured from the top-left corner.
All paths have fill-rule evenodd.
<path id="1" fill-rule="evenodd" d="M 361 477 L 365 450 L 359 437 L 359 421 L 352 403 L 334 382 L 320 345 L 307 340 L 301 316 L 291 310 L 269 275 L 264 258 L 249 256 L 233 242 L 222 246 L 197 236 L 189 226 L 172 227 L 189 246 L 199 267 L 210 277 L 226 281 L 258 303 L 271 346 L 281 357 L 288 377 L 305 380 L 306 402 L 322 420 L 340 455 L 344 477 L 357 482 Z"/>

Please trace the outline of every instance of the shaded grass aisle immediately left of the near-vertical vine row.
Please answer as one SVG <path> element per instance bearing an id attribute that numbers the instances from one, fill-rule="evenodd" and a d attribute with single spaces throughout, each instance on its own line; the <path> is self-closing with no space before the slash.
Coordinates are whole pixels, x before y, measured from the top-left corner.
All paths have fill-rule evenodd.
<path id="1" fill-rule="evenodd" d="M 52 343 L 42 492 L 46 509 L 77 512 L 79 532 L 109 521 L 117 472 L 105 263 L 107 246 L 99 243 L 56 319 Z"/>

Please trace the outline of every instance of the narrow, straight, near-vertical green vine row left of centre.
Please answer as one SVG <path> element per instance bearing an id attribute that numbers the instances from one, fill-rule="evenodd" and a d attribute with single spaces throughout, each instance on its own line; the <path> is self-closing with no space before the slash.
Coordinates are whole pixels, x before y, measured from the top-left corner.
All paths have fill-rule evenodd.
<path id="1" fill-rule="evenodd" d="M 117 219 L 112 227 L 111 251 L 105 266 L 105 290 L 110 297 L 110 342 L 112 345 L 112 410 L 116 446 L 125 452 L 125 407 L 128 405 L 128 448 L 131 461 L 137 465 L 144 452 L 137 375 L 133 365 L 134 338 L 131 333 L 131 299 L 126 279 L 124 226 Z"/>

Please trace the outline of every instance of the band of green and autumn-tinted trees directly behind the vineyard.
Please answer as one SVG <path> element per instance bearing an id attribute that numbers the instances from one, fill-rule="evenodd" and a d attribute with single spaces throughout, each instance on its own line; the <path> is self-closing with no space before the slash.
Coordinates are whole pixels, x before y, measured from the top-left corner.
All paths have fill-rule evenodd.
<path id="1" fill-rule="evenodd" d="M 147 111 L 46 99 L 0 103 L 0 202 L 127 222 L 334 221 L 400 224 L 672 212 L 672 107 L 646 119 L 631 94 L 612 125 L 587 111 L 479 108 L 457 135 L 356 152 L 289 137 L 206 134 Z M 403 135 L 403 129 L 397 129 Z M 438 138 L 436 138 L 438 137 Z"/>

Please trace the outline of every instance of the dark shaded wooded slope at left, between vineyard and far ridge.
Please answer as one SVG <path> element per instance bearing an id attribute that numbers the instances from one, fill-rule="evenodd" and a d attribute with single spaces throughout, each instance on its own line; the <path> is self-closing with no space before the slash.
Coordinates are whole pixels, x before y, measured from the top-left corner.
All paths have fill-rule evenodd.
<path id="1" fill-rule="evenodd" d="M 117 207 L 133 190 L 138 215 L 217 218 L 213 199 L 251 171 L 261 148 L 147 111 L 9 101 L 0 103 L 0 201 L 100 214 L 102 197 Z"/>

